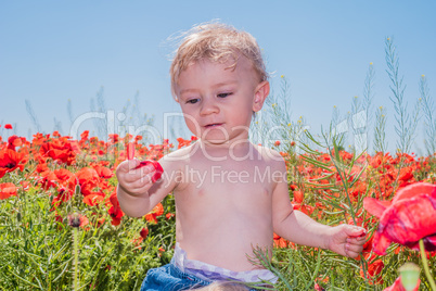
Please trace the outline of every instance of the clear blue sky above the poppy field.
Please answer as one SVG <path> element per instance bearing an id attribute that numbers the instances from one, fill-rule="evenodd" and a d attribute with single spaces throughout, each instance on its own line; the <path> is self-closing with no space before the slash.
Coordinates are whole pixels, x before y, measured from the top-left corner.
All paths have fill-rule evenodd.
<path id="1" fill-rule="evenodd" d="M 174 48 L 166 39 L 219 18 L 257 38 L 274 72 L 272 87 L 278 91 L 285 76 L 293 118 L 304 116 L 313 130 L 330 123 L 334 105 L 346 114 L 352 98 L 363 96 L 372 62 L 373 105 L 387 109 L 392 150 L 395 111 L 384 41 L 394 38 L 408 104 L 420 97 L 423 74 L 435 99 L 435 1 L 394 0 L 0 1 L 0 124 L 35 134 L 28 100 L 43 131 L 51 132 L 56 118 L 68 134 L 68 99 L 77 117 L 91 111 L 90 100 L 103 88 L 106 110 L 115 114 L 138 92 L 140 111 L 163 131 L 164 113 L 179 111 L 169 90 Z"/>

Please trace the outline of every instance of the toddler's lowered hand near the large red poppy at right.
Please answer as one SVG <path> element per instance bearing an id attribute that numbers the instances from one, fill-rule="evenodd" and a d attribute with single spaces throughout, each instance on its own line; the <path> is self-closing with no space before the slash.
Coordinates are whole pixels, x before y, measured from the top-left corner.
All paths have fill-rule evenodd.
<path id="1" fill-rule="evenodd" d="M 358 226 L 339 225 L 331 228 L 328 249 L 348 257 L 357 257 L 363 250 L 367 230 Z"/>

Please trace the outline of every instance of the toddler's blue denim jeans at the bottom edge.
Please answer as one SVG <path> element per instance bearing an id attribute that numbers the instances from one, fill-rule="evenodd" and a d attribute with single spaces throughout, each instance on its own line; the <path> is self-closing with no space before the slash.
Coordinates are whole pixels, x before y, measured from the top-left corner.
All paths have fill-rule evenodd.
<path id="1" fill-rule="evenodd" d="M 209 283 L 210 282 L 181 271 L 172 264 L 168 264 L 159 268 L 150 269 L 146 273 L 140 291 L 188 290 L 204 287 Z"/>

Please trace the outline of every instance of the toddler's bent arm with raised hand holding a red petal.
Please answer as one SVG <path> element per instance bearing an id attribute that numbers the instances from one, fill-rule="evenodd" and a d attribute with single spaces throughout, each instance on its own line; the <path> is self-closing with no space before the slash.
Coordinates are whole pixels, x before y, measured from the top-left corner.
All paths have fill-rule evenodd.
<path id="1" fill-rule="evenodd" d="M 159 161 L 164 173 L 156 182 L 152 182 L 154 168 L 151 165 L 137 168 L 138 160 L 125 161 L 117 167 L 117 198 L 123 212 L 132 217 L 148 214 L 177 186 L 181 175 L 178 163 L 165 156 Z"/>

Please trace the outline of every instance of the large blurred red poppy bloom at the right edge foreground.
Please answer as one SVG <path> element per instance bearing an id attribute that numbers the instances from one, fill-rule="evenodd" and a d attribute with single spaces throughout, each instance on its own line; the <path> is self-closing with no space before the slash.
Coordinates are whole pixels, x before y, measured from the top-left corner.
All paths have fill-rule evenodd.
<path id="1" fill-rule="evenodd" d="M 421 239 L 426 251 L 436 250 L 436 185 L 412 184 L 400 189 L 392 202 L 366 198 L 363 206 L 380 218 L 373 238 L 376 254 L 386 254 L 390 242 L 419 250 Z"/>

